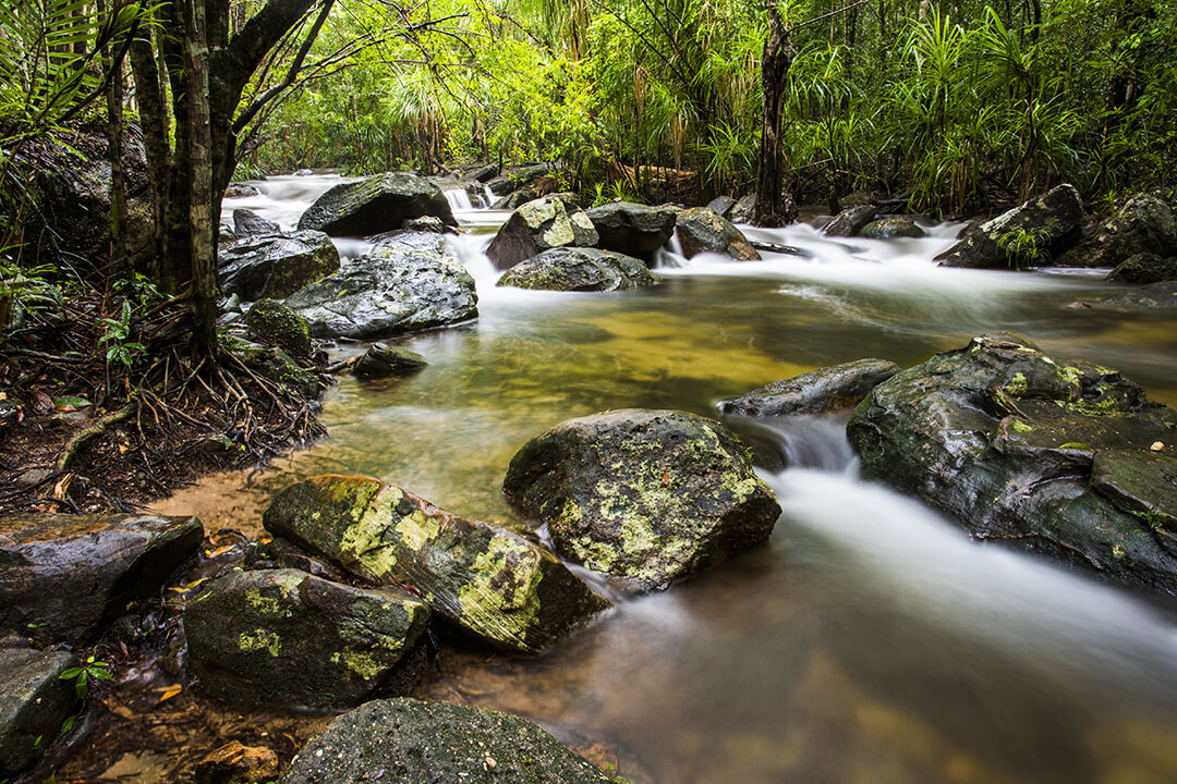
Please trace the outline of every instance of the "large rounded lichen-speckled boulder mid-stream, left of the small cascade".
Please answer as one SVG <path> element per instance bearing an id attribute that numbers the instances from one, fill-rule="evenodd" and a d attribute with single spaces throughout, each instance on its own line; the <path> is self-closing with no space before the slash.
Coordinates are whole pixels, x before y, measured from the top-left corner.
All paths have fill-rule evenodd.
<path id="1" fill-rule="evenodd" d="M 772 532 L 780 508 L 719 422 L 627 409 L 563 422 L 511 460 L 503 490 L 556 550 L 638 590 L 665 588 Z"/>

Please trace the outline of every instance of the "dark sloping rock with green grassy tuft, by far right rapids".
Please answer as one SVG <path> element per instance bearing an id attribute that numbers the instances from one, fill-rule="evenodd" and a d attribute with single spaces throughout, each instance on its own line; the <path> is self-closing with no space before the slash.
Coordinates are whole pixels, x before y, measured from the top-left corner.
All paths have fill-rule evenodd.
<path id="1" fill-rule="evenodd" d="M 972 228 L 936 259 L 942 267 L 975 269 L 1046 263 L 1079 239 L 1082 220 L 1079 192 L 1072 185 L 1060 185 Z"/>

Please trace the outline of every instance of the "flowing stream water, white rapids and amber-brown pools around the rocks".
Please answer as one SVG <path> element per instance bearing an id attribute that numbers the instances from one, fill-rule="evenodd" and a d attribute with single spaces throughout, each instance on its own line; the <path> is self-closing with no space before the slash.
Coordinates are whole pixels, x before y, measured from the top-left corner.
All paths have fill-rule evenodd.
<path id="1" fill-rule="evenodd" d="M 227 207 L 288 227 L 331 183 L 272 180 Z M 428 360 L 423 373 L 341 380 L 324 409 L 327 441 L 161 508 L 257 534 L 273 492 L 331 471 L 511 523 L 506 465 L 557 422 L 626 407 L 714 415 L 717 401 L 778 378 L 866 356 L 910 366 L 995 329 L 1116 367 L 1177 403 L 1177 319 L 1069 308 L 1109 292 L 1093 273 L 935 267 L 959 226 L 889 242 L 749 229 L 804 255 L 666 252 L 661 287 L 556 294 L 493 286 L 483 250 L 505 215 L 459 210 L 467 233 L 453 249 L 478 281 L 480 317 L 399 341 Z M 598 743 L 633 782 L 1177 780 L 1171 615 L 978 545 L 860 482 L 843 425 L 779 420 L 754 433 L 789 465 L 764 469 L 784 508 L 766 545 L 621 603 L 539 658 L 450 663 L 426 693 Z"/>

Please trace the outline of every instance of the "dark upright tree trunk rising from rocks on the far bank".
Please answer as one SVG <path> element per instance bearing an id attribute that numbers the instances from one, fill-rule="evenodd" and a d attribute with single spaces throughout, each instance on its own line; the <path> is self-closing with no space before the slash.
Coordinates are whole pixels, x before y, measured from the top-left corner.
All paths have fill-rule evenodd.
<path id="1" fill-rule="evenodd" d="M 764 40 L 760 78 L 764 85 L 764 125 L 760 128 L 760 159 L 757 168 L 756 216 L 758 226 L 780 226 L 792 212 L 783 193 L 785 160 L 782 149 L 782 125 L 787 96 L 789 68 L 797 51 L 793 48 L 792 28 L 770 2 L 769 35 Z"/>

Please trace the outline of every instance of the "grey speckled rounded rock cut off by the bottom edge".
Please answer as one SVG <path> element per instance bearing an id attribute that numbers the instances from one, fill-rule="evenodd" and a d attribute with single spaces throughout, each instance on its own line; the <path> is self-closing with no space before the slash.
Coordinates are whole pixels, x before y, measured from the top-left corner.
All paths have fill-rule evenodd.
<path id="1" fill-rule="evenodd" d="M 481 708 L 378 699 L 344 713 L 291 762 L 281 784 L 609 784 L 531 722 Z"/>

